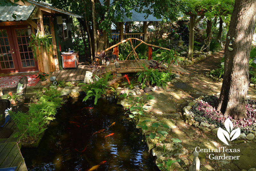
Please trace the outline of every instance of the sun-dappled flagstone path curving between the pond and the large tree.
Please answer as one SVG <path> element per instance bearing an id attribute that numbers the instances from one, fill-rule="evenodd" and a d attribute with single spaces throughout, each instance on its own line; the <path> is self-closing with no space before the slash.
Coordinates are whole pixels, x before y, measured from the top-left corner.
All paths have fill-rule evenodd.
<path id="1" fill-rule="evenodd" d="M 166 89 L 148 92 L 148 94 L 153 95 L 155 99 L 148 100 L 148 104 L 146 105 L 148 113 L 144 118 L 140 119 L 139 125 L 143 124 L 143 120 L 150 120 L 146 122 L 146 124 L 148 124 L 148 130 L 143 130 L 145 135 L 150 135 L 151 132 L 157 132 L 157 130 L 165 130 L 168 132 L 164 140 L 164 143 L 166 143 L 165 147 L 168 151 L 167 157 L 164 157 L 164 147 L 159 139 L 151 140 L 149 137 L 146 138 L 149 149 L 153 149 L 152 154 L 156 156 L 156 164 L 162 163 L 163 160 L 167 159 L 180 159 L 181 161 L 179 163 L 175 163 L 175 170 L 188 171 L 193 160 L 192 153 L 196 147 L 202 149 L 216 149 L 225 146 L 225 144 L 219 140 L 216 133 L 211 131 L 207 132 L 207 130 L 202 131 L 193 125 L 191 126 L 185 123 L 182 111 L 184 106 L 187 106 L 189 102 L 192 102 L 201 95 L 205 96 L 220 93 L 222 82 L 215 82 L 204 74 L 205 72 L 217 68 L 216 66 L 220 64 L 223 53 L 224 52 L 221 51 L 217 54 L 217 57 L 213 55 L 200 64 L 185 68 L 191 74 L 181 76 L 178 82 L 169 84 Z M 254 92 L 256 92 L 256 89 L 250 88 L 248 96 L 255 98 L 256 95 Z M 142 93 L 141 95 L 145 94 Z M 165 123 L 169 128 L 163 128 L 161 126 L 152 128 L 150 125 L 154 122 Z M 182 142 L 174 143 L 172 148 L 170 148 L 172 138 L 179 138 Z M 256 168 L 255 142 L 256 140 L 248 141 L 246 139 L 237 139 L 236 141 L 232 141 L 228 148 L 240 149 L 240 152 L 215 153 L 217 156 L 240 156 L 239 160 L 209 159 L 211 153 L 200 152 L 200 170 L 241 171 L 242 169 L 248 170 L 250 168 Z"/>

